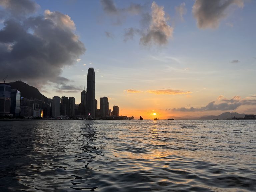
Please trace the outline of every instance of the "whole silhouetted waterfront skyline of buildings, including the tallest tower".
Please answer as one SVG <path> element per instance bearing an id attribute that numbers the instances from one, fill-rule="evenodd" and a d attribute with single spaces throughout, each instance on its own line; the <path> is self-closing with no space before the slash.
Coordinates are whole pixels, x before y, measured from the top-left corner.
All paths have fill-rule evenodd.
<path id="1" fill-rule="evenodd" d="M 0 116 L 25 118 L 47 117 L 55 119 L 69 118 L 113 118 L 128 119 L 127 116 L 119 116 L 119 107 L 109 109 L 107 97 L 100 98 L 100 109 L 95 99 L 95 73 L 93 68 L 88 69 L 86 91 L 81 92 L 81 103 L 75 104 L 74 97 L 58 97 L 52 99 L 23 98 L 21 92 L 12 89 L 11 85 L 0 83 Z M 134 117 L 130 117 L 133 119 Z"/>

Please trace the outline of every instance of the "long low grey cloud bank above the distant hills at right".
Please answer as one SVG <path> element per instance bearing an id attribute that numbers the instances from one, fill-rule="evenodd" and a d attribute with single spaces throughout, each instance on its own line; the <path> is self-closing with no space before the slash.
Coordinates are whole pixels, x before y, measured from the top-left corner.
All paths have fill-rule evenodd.
<path id="1" fill-rule="evenodd" d="M 220 103 L 216 104 L 215 101 L 208 103 L 208 105 L 201 108 L 173 108 L 172 111 L 182 111 L 182 112 L 195 112 L 195 111 L 229 111 L 235 110 L 241 105 L 256 105 L 256 99 L 242 99 L 240 96 L 234 96 L 232 99 L 223 99 Z"/>

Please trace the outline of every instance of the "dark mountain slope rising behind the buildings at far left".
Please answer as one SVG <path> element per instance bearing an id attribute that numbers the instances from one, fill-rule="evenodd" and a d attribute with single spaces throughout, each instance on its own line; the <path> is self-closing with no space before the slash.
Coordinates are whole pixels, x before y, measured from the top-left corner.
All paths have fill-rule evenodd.
<path id="1" fill-rule="evenodd" d="M 15 81 L 11 83 L 6 83 L 12 86 L 12 89 L 17 89 L 21 93 L 21 97 L 25 97 L 27 99 L 34 98 L 34 99 L 48 99 L 45 97 L 37 88 L 28 85 L 22 81 Z"/>

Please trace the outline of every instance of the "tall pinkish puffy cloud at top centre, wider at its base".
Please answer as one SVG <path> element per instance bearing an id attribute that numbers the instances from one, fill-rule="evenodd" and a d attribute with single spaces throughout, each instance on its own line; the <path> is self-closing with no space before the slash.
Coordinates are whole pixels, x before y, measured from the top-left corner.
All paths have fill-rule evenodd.
<path id="1" fill-rule="evenodd" d="M 167 24 L 163 6 L 158 6 L 155 2 L 151 5 L 152 20 L 146 33 L 140 38 L 142 45 L 151 43 L 164 45 L 168 43 L 168 39 L 172 37 L 173 28 Z"/>

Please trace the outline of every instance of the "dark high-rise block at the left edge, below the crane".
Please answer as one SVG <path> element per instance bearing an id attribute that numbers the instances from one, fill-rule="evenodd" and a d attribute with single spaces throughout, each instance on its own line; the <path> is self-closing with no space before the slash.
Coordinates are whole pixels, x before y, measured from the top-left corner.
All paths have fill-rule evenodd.
<path id="1" fill-rule="evenodd" d="M 0 115 L 7 115 L 11 109 L 11 86 L 0 83 Z"/>

